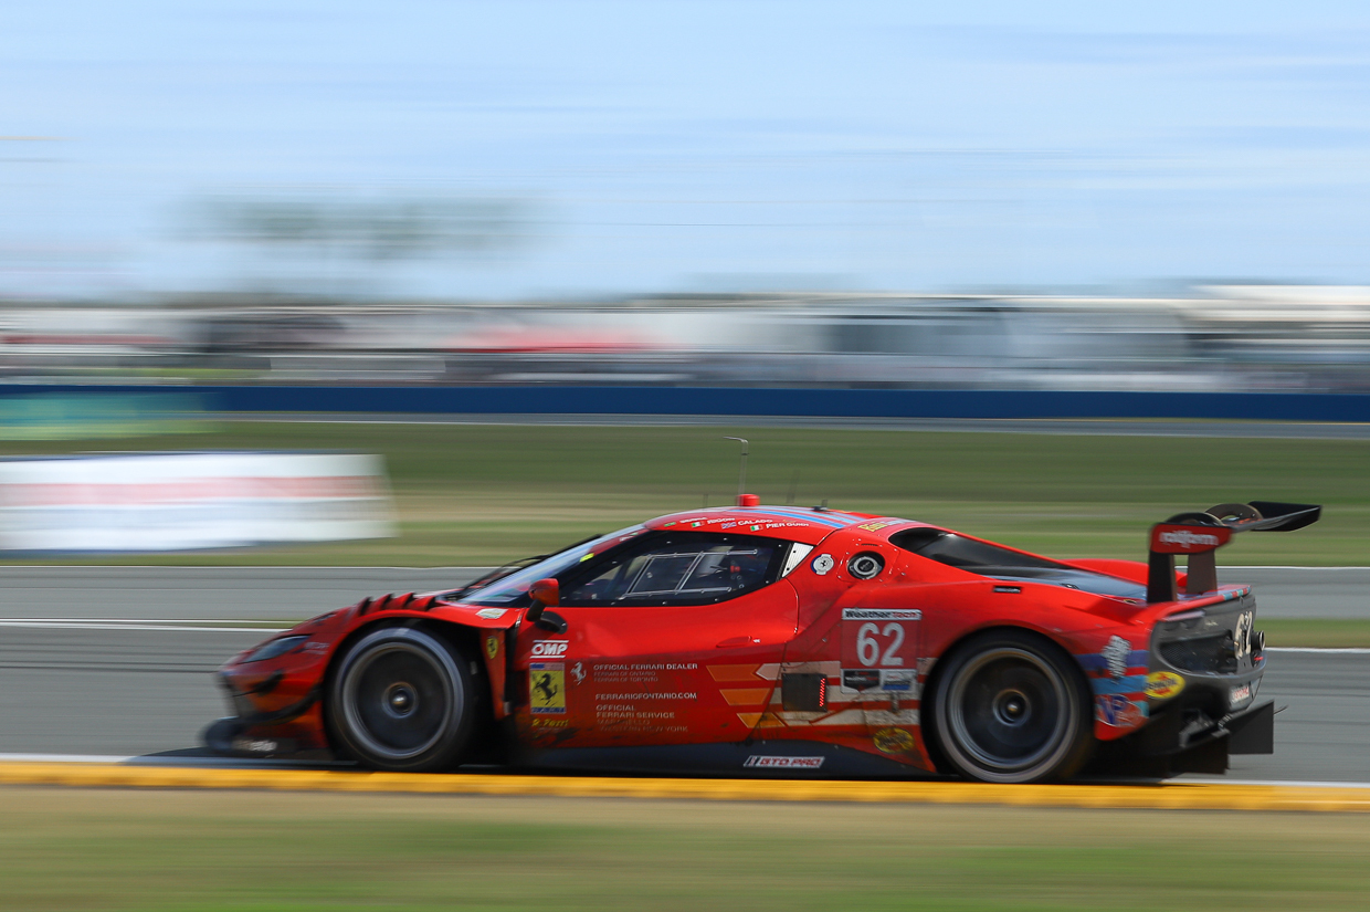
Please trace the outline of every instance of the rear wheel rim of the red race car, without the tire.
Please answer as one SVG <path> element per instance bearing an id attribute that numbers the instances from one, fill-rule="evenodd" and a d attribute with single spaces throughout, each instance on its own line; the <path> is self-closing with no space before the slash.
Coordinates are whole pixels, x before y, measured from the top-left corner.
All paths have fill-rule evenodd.
<path id="1" fill-rule="evenodd" d="M 966 758 L 993 778 L 1032 778 L 1069 749 L 1070 688 L 1023 649 L 984 651 L 949 682 L 945 724 Z"/>

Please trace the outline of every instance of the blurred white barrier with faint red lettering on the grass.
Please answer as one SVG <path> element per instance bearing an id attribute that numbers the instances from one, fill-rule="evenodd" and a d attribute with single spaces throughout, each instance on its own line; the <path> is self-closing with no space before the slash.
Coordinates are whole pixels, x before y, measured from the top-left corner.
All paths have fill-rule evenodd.
<path id="1" fill-rule="evenodd" d="M 377 455 L 0 459 L 0 550 L 182 551 L 395 535 Z"/>

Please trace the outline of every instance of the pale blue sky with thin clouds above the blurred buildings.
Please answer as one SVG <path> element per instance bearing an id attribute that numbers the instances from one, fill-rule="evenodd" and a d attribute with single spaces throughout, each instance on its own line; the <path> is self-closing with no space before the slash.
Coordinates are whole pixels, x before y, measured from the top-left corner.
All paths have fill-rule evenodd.
<path id="1" fill-rule="evenodd" d="M 0 295 L 1370 283 L 1370 7 L 1107 5 L 5 4 Z M 532 221 L 375 265 L 222 199 Z"/>

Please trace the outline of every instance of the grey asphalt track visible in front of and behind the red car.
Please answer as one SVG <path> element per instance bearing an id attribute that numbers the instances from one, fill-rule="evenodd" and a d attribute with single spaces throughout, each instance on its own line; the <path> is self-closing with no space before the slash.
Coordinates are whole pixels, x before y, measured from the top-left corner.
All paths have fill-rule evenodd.
<path id="1" fill-rule="evenodd" d="M 1232 571 L 1233 568 L 1226 568 Z M 197 747 L 225 715 L 212 672 L 286 620 L 364 594 L 438 590 L 470 568 L 5 568 L 0 754 L 148 756 Z M 1367 617 L 1366 568 L 1245 568 L 1267 617 Z M 245 625 L 245 627 L 244 627 Z M 1262 699 L 1275 753 L 1230 779 L 1370 782 L 1370 653 L 1278 651 Z"/>

